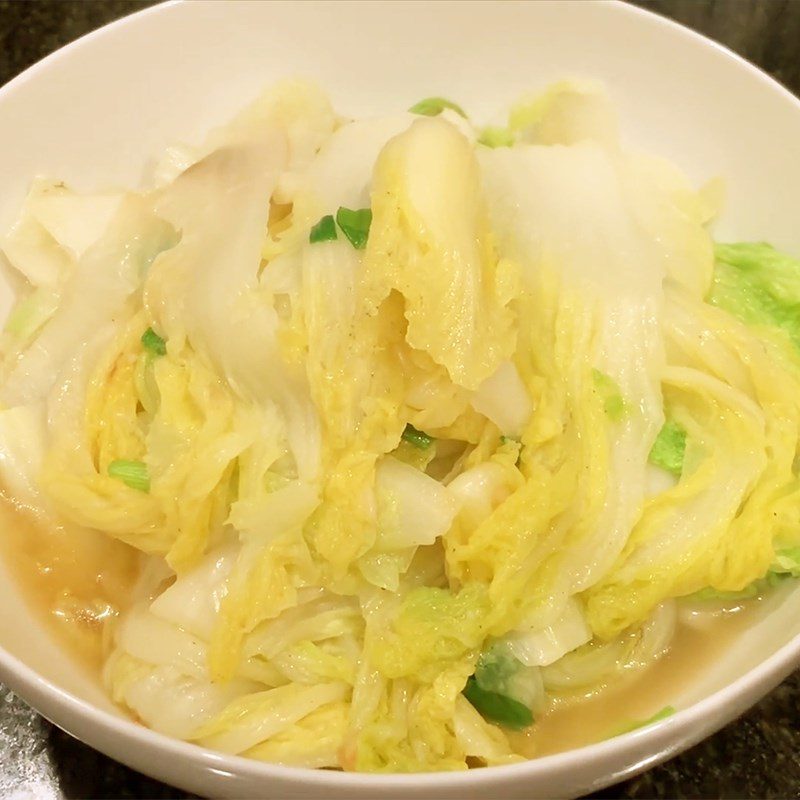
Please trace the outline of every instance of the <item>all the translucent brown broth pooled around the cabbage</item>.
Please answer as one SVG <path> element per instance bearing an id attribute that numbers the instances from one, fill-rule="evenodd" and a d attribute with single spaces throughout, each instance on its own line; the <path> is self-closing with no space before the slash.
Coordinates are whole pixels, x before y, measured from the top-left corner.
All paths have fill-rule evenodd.
<path id="1" fill-rule="evenodd" d="M 6 499 L 0 500 L 0 525 L 2 555 L 29 605 L 65 650 L 99 677 L 107 655 L 105 623 L 130 603 L 140 571 L 137 552 L 99 533 L 46 527 Z M 605 739 L 626 722 L 649 718 L 724 653 L 757 605 L 751 601 L 703 629 L 679 625 L 670 651 L 654 665 L 595 696 L 559 700 L 527 731 L 510 732 L 512 747 L 533 758 Z"/>

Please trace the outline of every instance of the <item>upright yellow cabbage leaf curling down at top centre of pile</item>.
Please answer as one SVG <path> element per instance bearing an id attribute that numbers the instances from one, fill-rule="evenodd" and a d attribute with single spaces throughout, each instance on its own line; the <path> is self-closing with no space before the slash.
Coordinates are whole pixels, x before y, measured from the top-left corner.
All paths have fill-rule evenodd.
<path id="1" fill-rule="evenodd" d="M 516 276 L 497 257 L 483 203 L 473 149 L 442 119 L 417 120 L 378 157 L 368 300 L 400 292 L 408 343 L 468 389 L 514 349 Z"/>

